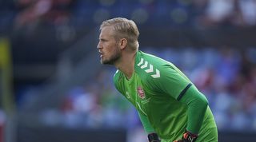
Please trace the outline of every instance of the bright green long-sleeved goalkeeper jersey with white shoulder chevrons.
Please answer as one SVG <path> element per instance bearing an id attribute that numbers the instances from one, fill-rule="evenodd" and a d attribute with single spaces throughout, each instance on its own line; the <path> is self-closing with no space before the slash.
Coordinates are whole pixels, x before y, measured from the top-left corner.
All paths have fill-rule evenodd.
<path id="1" fill-rule="evenodd" d="M 217 141 L 206 97 L 172 63 L 138 51 L 132 77 L 117 71 L 114 85 L 137 108 L 146 132 L 173 141 L 187 129 L 198 134 L 197 141 Z"/>

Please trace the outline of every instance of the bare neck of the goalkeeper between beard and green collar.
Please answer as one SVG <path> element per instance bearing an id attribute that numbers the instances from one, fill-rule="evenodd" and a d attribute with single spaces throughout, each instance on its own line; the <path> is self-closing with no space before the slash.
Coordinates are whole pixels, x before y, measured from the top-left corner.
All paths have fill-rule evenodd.
<path id="1" fill-rule="evenodd" d="M 135 53 L 123 53 L 120 60 L 114 66 L 130 79 L 134 73 Z"/>

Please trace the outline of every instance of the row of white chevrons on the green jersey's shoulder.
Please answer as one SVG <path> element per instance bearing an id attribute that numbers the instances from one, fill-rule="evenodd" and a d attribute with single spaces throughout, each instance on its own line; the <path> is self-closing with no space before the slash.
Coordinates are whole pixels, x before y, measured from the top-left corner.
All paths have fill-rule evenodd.
<path id="1" fill-rule="evenodd" d="M 149 64 L 147 61 L 145 61 L 143 58 L 141 58 L 141 61 L 137 64 L 141 69 L 143 69 L 146 73 L 155 73 L 152 74 L 151 77 L 158 78 L 160 77 L 160 72 L 158 69 L 154 70 L 154 66 Z M 148 69 L 149 67 L 149 69 Z M 155 71 L 155 72 L 154 72 Z"/>

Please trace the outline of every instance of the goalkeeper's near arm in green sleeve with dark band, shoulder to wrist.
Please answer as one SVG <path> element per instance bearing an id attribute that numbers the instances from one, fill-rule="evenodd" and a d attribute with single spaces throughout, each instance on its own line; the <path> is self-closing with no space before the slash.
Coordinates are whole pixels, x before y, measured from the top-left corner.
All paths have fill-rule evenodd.
<path id="1" fill-rule="evenodd" d="M 151 86 L 155 86 L 154 89 L 158 92 L 168 94 L 187 105 L 188 120 L 185 134 L 190 134 L 189 136 L 194 136 L 196 139 L 208 106 L 206 97 L 174 66 L 162 66 L 161 73 L 161 77 L 151 80 L 153 82 Z"/>

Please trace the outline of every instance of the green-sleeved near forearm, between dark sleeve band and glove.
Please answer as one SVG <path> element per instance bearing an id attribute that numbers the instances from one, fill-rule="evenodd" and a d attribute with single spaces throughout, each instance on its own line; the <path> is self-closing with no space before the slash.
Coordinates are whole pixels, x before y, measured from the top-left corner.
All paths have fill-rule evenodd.
<path id="1" fill-rule="evenodd" d="M 188 106 L 186 129 L 189 132 L 198 134 L 208 106 L 206 97 L 192 85 L 180 101 Z"/>

